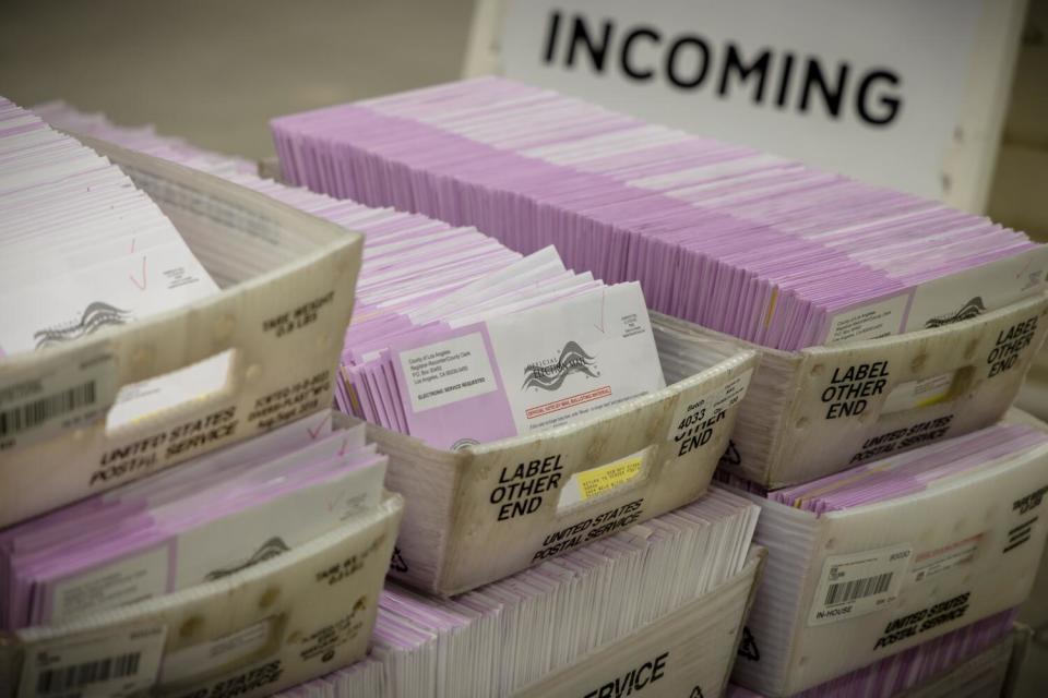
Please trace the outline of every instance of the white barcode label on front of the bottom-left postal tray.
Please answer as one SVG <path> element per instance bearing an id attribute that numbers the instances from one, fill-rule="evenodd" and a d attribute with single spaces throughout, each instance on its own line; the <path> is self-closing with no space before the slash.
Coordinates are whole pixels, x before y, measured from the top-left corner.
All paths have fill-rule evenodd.
<path id="1" fill-rule="evenodd" d="M 123 698 L 156 683 L 167 626 L 61 637 L 26 648 L 19 698 Z"/>

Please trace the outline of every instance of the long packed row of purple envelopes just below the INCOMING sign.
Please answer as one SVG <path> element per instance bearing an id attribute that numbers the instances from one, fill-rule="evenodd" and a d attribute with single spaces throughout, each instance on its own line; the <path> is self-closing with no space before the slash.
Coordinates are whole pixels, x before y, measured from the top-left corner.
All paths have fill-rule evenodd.
<path id="1" fill-rule="evenodd" d="M 765 347 L 868 340 L 1041 293 L 1048 251 L 941 204 L 484 77 L 272 122 L 291 182 L 473 225 Z"/>

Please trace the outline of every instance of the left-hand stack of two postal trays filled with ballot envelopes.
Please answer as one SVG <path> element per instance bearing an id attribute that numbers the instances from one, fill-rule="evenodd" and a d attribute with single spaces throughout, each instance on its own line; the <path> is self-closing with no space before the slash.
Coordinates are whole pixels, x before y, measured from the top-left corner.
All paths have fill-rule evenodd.
<path id="1" fill-rule="evenodd" d="M 403 500 L 330 410 L 361 236 L 10 103 L 0 157 L 0 695 L 364 657 Z"/>

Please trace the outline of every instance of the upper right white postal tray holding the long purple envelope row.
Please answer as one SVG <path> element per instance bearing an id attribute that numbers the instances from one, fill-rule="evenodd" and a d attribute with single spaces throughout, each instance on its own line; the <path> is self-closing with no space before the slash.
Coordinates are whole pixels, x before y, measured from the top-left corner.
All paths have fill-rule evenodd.
<path id="1" fill-rule="evenodd" d="M 659 328 L 667 327 L 690 334 L 696 346 L 726 341 L 760 353 L 720 466 L 774 490 L 999 420 L 1048 332 L 1048 297 L 934 329 L 797 352 L 758 347 L 658 313 L 652 313 L 652 323 L 656 341 Z M 951 372 L 943 399 L 888 409 L 900 386 L 905 390 Z"/>

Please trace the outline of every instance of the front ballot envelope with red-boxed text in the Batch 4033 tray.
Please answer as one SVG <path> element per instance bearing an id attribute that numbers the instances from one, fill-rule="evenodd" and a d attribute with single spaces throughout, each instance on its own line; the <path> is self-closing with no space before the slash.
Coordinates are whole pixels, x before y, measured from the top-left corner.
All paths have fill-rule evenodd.
<path id="1" fill-rule="evenodd" d="M 458 448 L 584 418 L 665 386 L 635 284 L 391 346 L 408 433 Z"/>

